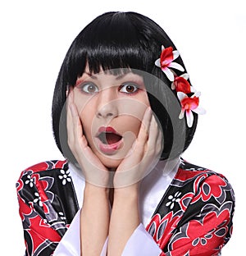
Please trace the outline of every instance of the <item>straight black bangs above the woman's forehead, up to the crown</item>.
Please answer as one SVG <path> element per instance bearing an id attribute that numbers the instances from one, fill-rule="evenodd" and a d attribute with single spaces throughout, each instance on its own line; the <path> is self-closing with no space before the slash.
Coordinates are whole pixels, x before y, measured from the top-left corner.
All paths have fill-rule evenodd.
<path id="1" fill-rule="evenodd" d="M 121 68 L 151 72 L 149 47 L 142 37 L 125 13 L 112 12 L 106 18 L 99 17 L 86 26 L 71 45 L 67 65 L 69 84 L 75 85 L 87 65 L 91 74 L 113 70 L 113 74 L 118 75 Z"/>

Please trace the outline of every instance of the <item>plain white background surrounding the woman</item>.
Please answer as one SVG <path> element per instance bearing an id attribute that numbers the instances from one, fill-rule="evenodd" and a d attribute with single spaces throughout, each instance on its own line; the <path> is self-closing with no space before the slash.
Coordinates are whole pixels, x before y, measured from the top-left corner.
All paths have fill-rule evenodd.
<path id="1" fill-rule="evenodd" d="M 207 109 L 184 157 L 223 173 L 233 185 L 235 228 L 222 255 L 244 254 L 244 0 L 2 2 L 1 255 L 24 254 L 15 183 L 25 167 L 62 158 L 51 126 L 57 72 L 75 35 L 105 11 L 138 11 L 149 16 L 179 49 L 194 87 L 202 92 L 201 105 Z"/>

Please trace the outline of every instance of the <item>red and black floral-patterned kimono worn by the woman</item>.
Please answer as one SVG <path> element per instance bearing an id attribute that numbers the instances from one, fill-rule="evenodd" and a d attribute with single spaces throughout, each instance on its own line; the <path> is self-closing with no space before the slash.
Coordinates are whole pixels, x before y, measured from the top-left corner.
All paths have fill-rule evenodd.
<path id="1" fill-rule="evenodd" d="M 70 171 L 66 160 L 41 162 L 22 171 L 16 190 L 25 255 L 54 254 L 72 226 L 81 205 Z M 157 253 L 146 254 L 153 256 L 220 255 L 230 240 L 235 208 L 234 192 L 225 176 L 181 158 L 161 195 L 150 219 L 127 242 L 125 252 L 131 252 L 132 245 L 139 246 L 139 252 L 124 255 L 145 255 L 143 245 L 156 246 Z"/>

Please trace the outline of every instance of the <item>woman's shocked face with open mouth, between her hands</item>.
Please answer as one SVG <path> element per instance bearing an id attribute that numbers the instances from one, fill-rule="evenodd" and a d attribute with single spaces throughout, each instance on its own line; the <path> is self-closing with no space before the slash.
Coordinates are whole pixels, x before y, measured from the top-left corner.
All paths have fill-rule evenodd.
<path id="1" fill-rule="evenodd" d="M 130 71 L 84 74 L 77 80 L 74 101 L 90 148 L 106 167 L 116 168 L 138 137 L 149 106 L 143 77 Z"/>

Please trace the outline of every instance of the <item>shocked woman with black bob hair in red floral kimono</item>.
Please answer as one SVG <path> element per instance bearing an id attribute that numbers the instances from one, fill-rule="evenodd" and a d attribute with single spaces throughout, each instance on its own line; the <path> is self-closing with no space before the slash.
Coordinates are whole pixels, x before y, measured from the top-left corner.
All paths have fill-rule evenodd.
<path id="1" fill-rule="evenodd" d="M 98 16 L 57 78 L 52 124 L 63 161 L 17 182 L 26 255 L 219 255 L 235 199 L 225 176 L 180 158 L 198 91 L 162 28 Z"/>

